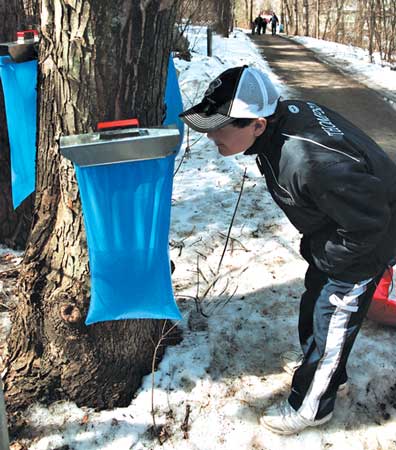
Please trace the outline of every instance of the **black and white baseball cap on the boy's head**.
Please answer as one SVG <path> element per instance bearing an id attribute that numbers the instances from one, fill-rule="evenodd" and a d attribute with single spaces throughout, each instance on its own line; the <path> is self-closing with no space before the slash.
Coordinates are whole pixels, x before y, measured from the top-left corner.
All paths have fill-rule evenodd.
<path id="1" fill-rule="evenodd" d="M 207 133 L 235 119 L 271 116 L 278 100 L 279 93 L 265 73 L 248 66 L 233 67 L 215 78 L 201 103 L 180 118 L 193 130 Z"/>

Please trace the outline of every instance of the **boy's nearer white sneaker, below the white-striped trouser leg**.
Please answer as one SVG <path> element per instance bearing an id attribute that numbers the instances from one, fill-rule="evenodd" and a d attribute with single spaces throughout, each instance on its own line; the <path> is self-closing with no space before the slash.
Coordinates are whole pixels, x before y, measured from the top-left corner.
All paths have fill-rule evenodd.
<path id="1" fill-rule="evenodd" d="M 282 403 L 271 406 L 260 419 L 261 425 L 277 434 L 295 434 L 308 427 L 317 427 L 328 422 L 333 413 L 328 414 L 320 420 L 308 420 L 295 411 L 290 403 L 285 400 Z"/>

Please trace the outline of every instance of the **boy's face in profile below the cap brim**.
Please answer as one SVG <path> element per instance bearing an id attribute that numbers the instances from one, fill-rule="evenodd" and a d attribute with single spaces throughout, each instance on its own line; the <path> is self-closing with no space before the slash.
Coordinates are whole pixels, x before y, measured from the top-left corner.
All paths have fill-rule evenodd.
<path id="1" fill-rule="evenodd" d="M 250 125 L 238 128 L 226 125 L 215 131 L 207 133 L 219 150 L 222 156 L 236 155 L 250 148 L 258 136 L 264 133 L 267 121 L 264 118 L 255 119 Z"/>

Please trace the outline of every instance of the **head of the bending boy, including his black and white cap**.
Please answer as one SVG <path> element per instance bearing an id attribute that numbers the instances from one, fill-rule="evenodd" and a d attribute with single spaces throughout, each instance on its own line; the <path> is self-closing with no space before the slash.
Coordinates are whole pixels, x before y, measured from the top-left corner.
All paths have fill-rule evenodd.
<path id="1" fill-rule="evenodd" d="M 219 152 L 228 156 L 253 145 L 278 100 L 266 74 L 248 66 L 234 67 L 213 80 L 202 101 L 180 117 L 193 130 L 207 133 Z"/>

